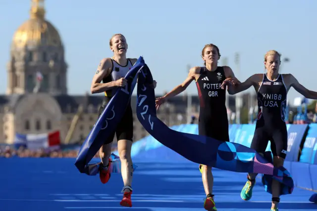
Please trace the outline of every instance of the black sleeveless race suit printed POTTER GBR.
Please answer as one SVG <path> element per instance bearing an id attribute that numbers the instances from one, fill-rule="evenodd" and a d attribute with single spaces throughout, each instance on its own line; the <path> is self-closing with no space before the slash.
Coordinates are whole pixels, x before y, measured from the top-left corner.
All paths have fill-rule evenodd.
<path id="1" fill-rule="evenodd" d="M 220 87 L 225 79 L 223 67 L 218 67 L 215 71 L 201 67 L 200 77 L 196 82 L 200 102 L 199 135 L 218 141 L 229 141 L 226 87 Z"/>

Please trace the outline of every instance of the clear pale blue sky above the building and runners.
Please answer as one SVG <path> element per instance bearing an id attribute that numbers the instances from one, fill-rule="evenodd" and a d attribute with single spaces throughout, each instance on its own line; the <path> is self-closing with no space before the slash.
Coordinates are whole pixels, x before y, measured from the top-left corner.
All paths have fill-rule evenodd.
<path id="1" fill-rule="evenodd" d="M 30 5 L 30 0 L 0 0 L 0 94 L 5 93 L 13 33 L 29 18 Z M 69 94 L 89 91 L 100 60 L 112 56 L 108 42 L 115 33 L 125 35 L 129 57 L 144 56 L 158 81 L 157 94 L 181 83 L 187 64 L 202 65 L 201 51 L 208 43 L 219 47 L 241 81 L 264 72 L 264 54 L 277 50 L 290 58 L 281 71 L 317 91 L 316 0 L 45 0 L 45 5 L 46 18 L 65 46 Z M 188 92 L 197 95 L 194 83 Z M 299 96 L 292 89 L 290 103 Z"/>

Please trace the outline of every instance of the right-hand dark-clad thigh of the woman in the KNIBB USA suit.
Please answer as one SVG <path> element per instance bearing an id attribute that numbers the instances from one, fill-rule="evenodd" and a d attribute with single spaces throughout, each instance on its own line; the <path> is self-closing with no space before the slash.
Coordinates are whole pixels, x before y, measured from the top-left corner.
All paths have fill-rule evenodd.
<path id="1" fill-rule="evenodd" d="M 272 132 L 271 151 L 273 156 L 285 159 L 287 154 L 287 129 L 278 128 Z"/>

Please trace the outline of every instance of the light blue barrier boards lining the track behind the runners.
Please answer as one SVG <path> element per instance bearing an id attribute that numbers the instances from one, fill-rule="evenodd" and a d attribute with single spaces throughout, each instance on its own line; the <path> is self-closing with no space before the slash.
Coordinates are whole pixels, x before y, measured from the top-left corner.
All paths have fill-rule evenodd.
<path id="1" fill-rule="evenodd" d="M 230 142 L 250 147 L 256 124 L 231 124 L 229 125 Z M 197 124 L 183 124 L 170 127 L 173 130 L 198 134 Z M 291 173 L 296 187 L 317 191 L 317 124 L 287 124 L 288 149 L 284 167 Z M 307 133 L 307 136 L 304 137 Z M 304 142 L 305 141 L 305 142 Z M 304 142 L 303 149 L 301 144 Z M 266 151 L 270 150 L 268 142 Z M 301 152 L 300 160 L 298 155 Z M 186 160 L 174 151 L 160 144 L 152 136 L 145 137 L 132 146 L 134 158 L 165 158 L 174 160 Z M 317 194 L 314 194 L 311 202 L 317 203 Z"/>

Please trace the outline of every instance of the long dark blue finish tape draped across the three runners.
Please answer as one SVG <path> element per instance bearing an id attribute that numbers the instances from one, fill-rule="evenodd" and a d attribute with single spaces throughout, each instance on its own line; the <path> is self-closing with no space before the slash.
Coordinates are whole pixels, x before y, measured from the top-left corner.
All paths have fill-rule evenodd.
<path id="1" fill-rule="evenodd" d="M 150 86 L 153 78 L 142 57 L 138 59 L 125 77 L 128 80 L 128 94 L 130 96 L 136 85 L 137 76 L 137 117 L 150 135 L 161 144 L 196 163 L 235 172 L 261 173 L 263 174 L 265 191 L 269 193 L 271 193 L 272 179 L 282 183 L 281 195 L 292 193 L 294 182 L 290 173 L 284 167 L 274 167 L 271 162 L 255 150 L 237 143 L 182 133 L 167 127 L 156 115 L 155 93 Z M 122 117 L 120 113 L 124 113 L 128 103 L 126 95 L 127 93 L 122 89 L 116 92 L 87 137 L 75 163 L 80 172 L 94 175 L 89 168 L 93 164 L 88 163 L 103 145 L 104 140 L 115 130 Z M 100 131 L 103 129 L 106 130 L 101 134 Z"/>

